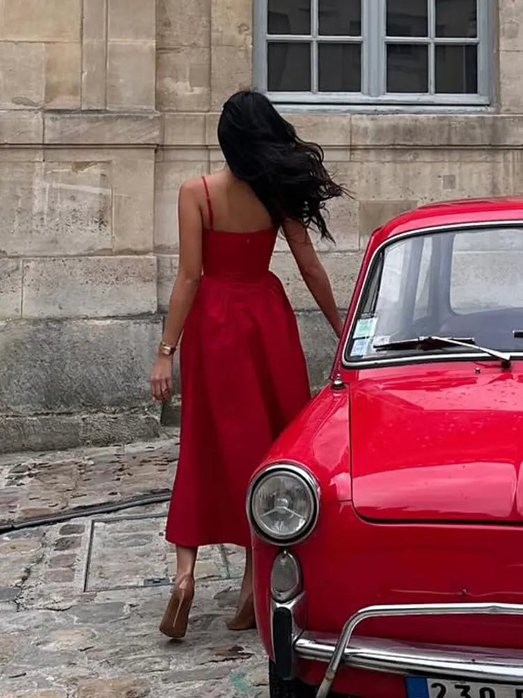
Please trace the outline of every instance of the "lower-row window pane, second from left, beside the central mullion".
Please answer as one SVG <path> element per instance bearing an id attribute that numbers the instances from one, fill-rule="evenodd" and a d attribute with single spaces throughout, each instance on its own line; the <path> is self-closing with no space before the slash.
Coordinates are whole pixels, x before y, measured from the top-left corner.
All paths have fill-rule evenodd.
<path id="1" fill-rule="evenodd" d="M 361 91 L 361 46 L 359 44 L 320 43 L 319 91 Z"/>

